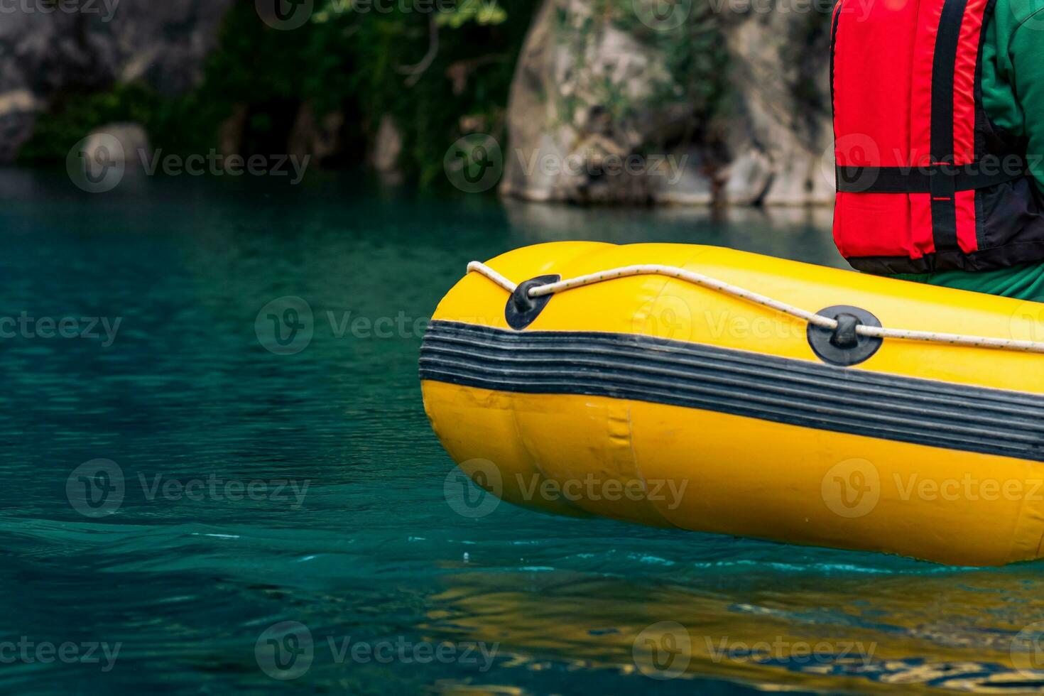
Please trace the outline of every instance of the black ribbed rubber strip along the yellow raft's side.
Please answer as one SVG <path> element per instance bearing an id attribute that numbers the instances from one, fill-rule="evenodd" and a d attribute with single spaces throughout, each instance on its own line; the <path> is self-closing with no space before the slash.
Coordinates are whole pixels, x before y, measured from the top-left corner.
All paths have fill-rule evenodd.
<path id="1" fill-rule="evenodd" d="M 1044 461 L 1044 395 L 636 334 L 432 321 L 421 379 L 667 404 Z"/>

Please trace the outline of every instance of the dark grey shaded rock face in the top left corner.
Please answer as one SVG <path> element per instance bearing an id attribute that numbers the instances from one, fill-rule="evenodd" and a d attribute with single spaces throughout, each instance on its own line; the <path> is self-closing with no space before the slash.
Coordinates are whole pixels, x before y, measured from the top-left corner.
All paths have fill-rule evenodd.
<path id="1" fill-rule="evenodd" d="M 0 20 L 0 162 L 31 135 L 35 115 L 67 91 L 144 80 L 175 94 L 199 78 L 233 0 L 19 3 Z"/>

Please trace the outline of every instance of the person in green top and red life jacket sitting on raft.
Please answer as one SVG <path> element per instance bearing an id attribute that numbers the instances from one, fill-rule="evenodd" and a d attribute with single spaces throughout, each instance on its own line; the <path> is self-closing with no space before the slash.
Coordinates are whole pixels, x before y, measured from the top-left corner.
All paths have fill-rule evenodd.
<path id="1" fill-rule="evenodd" d="M 840 0 L 834 240 L 861 271 L 1044 301 L 1044 7 Z"/>

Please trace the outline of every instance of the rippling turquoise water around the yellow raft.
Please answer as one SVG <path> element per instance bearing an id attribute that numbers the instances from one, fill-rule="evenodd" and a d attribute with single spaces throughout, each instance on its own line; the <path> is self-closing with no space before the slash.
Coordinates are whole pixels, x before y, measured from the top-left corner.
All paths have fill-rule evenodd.
<path id="1" fill-rule="evenodd" d="M 452 462 L 421 405 L 414 327 L 468 261 L 584 238 L 838 265 L 829 212 L 505 208 L 358 186 L 148 179 L 89 195 L 0 172 L 0 316 L 35 321 L 0 339 L 4 691 L 1042 683 L 1011 652 L 1044 618 L 1040 563 L 951 569 L 506 504 L 471 520 L 444 496 Z M 310 340 L 281 346 L 262 309 L 279 301 L 282 316 L 287 296 L 311 310 L 294 315 Z M 45 317 L 76 337 L 47 338 Z M 636 652 L 664 621 L 691 641 L 660 643 L 684 671 Z"/>

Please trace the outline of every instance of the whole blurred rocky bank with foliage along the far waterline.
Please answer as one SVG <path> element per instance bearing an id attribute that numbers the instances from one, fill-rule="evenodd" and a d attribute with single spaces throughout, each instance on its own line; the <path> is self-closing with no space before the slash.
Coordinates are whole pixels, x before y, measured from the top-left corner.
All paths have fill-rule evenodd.
<path id="1" fill-rule="evenodd" d="M 253 0 L 75 1 L 0 18 L 0 162 L 64 158 L 120 121 L 168 150 L 309 153 L 432 184 L 446 144 L 482 131 L 508 197 L 833 198 L 826 0 L 543 0 L 430 30 L 416 11 L 347 11 L 283 31 Z M 314 7 L 334 4 L 353 7 Z M 188 96 L 165 110 L 164 95 Z"/>

